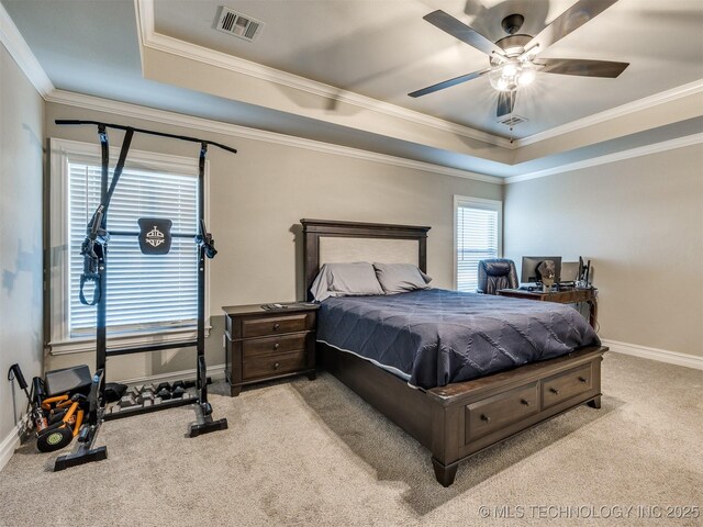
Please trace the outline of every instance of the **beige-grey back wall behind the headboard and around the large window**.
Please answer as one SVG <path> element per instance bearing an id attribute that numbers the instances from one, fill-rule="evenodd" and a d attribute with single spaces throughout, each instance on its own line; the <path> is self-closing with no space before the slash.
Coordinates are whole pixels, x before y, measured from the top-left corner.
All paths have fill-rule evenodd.
<path id="1" fill-rule="evenodd" d="M 94 127 L 59 127 L 55 119 L 131 124 L 201 135 L 238 148 L 232 156 L 210 149 L 210 223 L 217 250 L 210 274 L 213 334 L 208 363 L 224 362 L 223 305 L 303 299 L 301 217 L 429 225 L 428 272 L 433 284 L 451 288 L 454 194 L 502 199 L 502 187 L 263 141 L 199 133 L 119 115 L 47 104 L 47 136 L 97 143 Z M 121 135 L 112 133 L 112 143 Z M 197 156 L 198 146 L 136 136 L 133 148 Z M 49 357 L 47 368 L 94 363 L 92 354 Z M 193 368 L 192 352 L 135 355 L 111 359 L 112 379 Z"/>

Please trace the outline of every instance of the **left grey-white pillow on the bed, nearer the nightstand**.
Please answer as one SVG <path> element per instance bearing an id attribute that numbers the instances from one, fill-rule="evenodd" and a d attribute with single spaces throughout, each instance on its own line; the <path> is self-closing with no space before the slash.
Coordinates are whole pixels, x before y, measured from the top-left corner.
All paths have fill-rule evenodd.
<path id="1" fill-rule="evenodd" d="M 328 296 L 384 294 L 368 261 L 323 265 L 310 291 L 319 302 Z"/>

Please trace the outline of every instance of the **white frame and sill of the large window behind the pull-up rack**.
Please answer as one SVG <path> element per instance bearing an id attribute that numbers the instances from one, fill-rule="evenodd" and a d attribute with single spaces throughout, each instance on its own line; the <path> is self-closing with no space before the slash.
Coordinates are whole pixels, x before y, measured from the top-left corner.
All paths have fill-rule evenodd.
<path id="1" fill-rule="evenodd" d="M 89 162 L 101 165 L 101 147 L 99 143 L 83 143 L 78 141 L 52 137 L 49 139 L 49 198 L 48 198 L 48 243 L 47 255 L 47 349 L 51 355 L 79 354 L 94 351 L 96 337 L 71 337 L 69 327 L 70 313 L 70 225 L 69 210 L 69 160 L 72 162 Z M 110 147 L 110 168 L 114 168 L 120 156 L 119 147 Z M 198 178 L 198 158 L 182 157 L 170 154 L 137 150 L 130 148 L 126 168 L 163 171 Z M 210 224 L 208 211 L 210 209 L 210 162 L 205 160 L 204 168 L 204 213 L 205 224 Z M 205 267 L 205 298 L 210 296 L 210 266 Z M 210 306 L 205 303 L 205 336 L 209 336 Z M 193 340 L 197 337 L 197 321 L 193 326 L 178 328 L 163 328 L 120 333 L 110 335 L 110 347 L 132 347 L 146 344 L 169 344 Z"/>

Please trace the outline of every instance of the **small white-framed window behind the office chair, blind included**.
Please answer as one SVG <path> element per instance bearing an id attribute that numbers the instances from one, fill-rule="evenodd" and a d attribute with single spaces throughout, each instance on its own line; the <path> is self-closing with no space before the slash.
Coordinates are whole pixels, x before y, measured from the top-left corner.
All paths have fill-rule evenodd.
<path id="1" fill-rule="evenodd" d="M 502 208 L 500 201 L 454 197 L 457 290 L 476 292 L 479 260 L 500 257 Z"/>

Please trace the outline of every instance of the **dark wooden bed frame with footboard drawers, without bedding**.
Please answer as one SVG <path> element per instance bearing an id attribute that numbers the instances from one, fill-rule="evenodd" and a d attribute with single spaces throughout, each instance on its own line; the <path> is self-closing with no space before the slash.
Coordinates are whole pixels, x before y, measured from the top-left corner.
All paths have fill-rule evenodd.
<path id="1" fill-rule="evenodd" d="M 429 227 L 301 220 L 305 288 L 320 269 L 320 239 L 409 238 L 426 271 Z M 400 378 L 353 354 L 317 343 L 323 368 L 432 452 L 437 481 L 454 482 L 459 462 L 580 404 L 601 405 L 601 360 L 607 348 L 588 347 L 473 381 L 415 390 Z"/>

